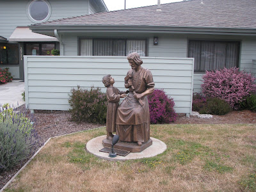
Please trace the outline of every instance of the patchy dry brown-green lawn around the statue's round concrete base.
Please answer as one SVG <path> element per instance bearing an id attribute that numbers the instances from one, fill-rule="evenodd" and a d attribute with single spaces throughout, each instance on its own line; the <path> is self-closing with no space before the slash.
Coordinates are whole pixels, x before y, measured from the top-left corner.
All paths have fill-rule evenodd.
<path id="1" fill-rule="evenodd" d="M 105 128 L 52 139 L 6 191 L 256 191 L 255 125 L 151 125 L 156 157 L 106 161 L 84 151 Z"/>

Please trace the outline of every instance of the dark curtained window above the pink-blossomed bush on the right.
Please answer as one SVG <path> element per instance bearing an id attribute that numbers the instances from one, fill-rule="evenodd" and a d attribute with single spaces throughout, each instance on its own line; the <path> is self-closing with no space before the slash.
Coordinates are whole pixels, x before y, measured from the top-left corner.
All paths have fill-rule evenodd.
<path id="1" fill-rule="evenodd" d="M 189 40 L 189 58 L 195 58 L 195 72 L 238 67 L 240 42 Z"/>

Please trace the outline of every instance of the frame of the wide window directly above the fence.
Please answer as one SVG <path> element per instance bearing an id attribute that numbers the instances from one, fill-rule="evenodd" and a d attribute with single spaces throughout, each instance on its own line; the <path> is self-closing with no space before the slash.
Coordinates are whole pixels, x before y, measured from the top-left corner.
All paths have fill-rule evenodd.
<path id="1" fill-rule="evenodd" d="M 92 39 L 92 56 L 95 56 L 95 54 L 94 54 L 94 40 L 125 40 L 125 56 L 127 56 L 126 55 L 126 53 L 127 53 L 127 40 L 145 40 L 145 56 L 148 56 L 148 38 L 122 38 L 122 37 L 120 37 L 120 38 L 79 37 L 78 38 L 78 46 L 79 46 L 78 47 L 78 56 L 81 56 L 81 40 L 86 40 L 86 39 Z"/>

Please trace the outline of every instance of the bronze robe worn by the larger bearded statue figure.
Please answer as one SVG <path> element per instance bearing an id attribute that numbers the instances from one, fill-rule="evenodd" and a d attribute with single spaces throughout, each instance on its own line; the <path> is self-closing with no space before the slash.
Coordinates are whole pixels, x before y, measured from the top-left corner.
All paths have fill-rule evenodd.
<path id="1" fill-rule="evenodd" d="M 120 141 L 147 142 L 150 138 L 150 118 L 147 96 L 142 97 L 140 102 L 134 98 L 133 92 L 143 93 L 148 88 L 154 88 L 154 81 L 150 70 L 142 68 L 135 72 L 129 70 L 132 75 L 134 90 L 129 88 L 129 95 L 123 100 L 116 113 L 116 134 Z M 126 81 L 125 84 L 128 82 Z"/>

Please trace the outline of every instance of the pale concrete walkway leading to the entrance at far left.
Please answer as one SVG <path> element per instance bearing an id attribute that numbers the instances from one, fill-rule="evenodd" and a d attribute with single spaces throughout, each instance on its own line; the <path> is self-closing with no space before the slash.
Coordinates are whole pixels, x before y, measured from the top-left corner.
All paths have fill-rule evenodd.
<path id="1" fill-rule="evenodd" d="M 10 104 L 11 107 L 17 108 L 24 104 L 22 95 L 25 91 L 24 82 L 20 80 L 13 80 L 10 83 L 0 84 L 0 104 Z"/>

